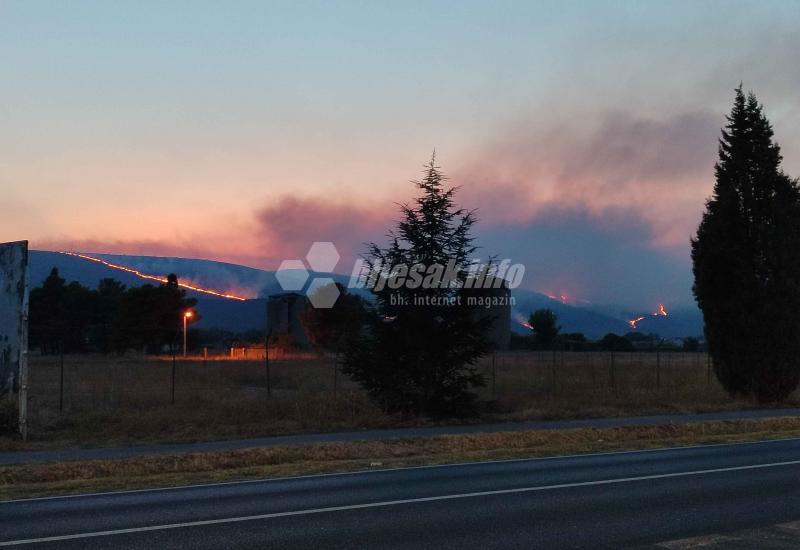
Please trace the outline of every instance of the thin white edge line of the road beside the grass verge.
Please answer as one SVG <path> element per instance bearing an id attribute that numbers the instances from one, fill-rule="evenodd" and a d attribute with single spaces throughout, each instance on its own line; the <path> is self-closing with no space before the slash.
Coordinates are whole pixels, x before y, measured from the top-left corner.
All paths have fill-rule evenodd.
<path id="1" fill-rule="evenodd" d="M 18 498 L 14 500 L 0 500 L 0 506 L 3 504 L 14 504 L 16 502 L 32 502 L 39 500 L 60 500 L 60 499 L 74 499 L 74 498 L 90 498 L 90 497 L 105 497 L 114 495 L 129 495 L 137 493 L 156 493 L 162 491 L 178 491 L 185 489 L 209 489 L 214 487 L 226 487 L 230 485 L 250 485 L 253 483 L 273 483 L 281 481 L 293 481 L 298 479 L 316 479 L 325 477 L 339 477 L 339 476 L 356 476 L 363 474 L 385 474 L 390 472 L 398 472 L 403 470 L 429 470 L 435 468 L 454 468 L 460 466 L 481 466 L 487 464 L 509 464 L 515 462 L 542 462 L 550 460 L 564 460 L 576 458 L 592 458 L 603 456 L 615 455 L 631 455 L 640 453 L 663 453 L 669 451 L 693 451 L 707 448 L 716 447 L 741 447 L 745 445 L 765 445 L 771 443 L 787 443 L 790 441 L 800 441 L 800 437 L 784 437 L 779 439 L 762 439 L 760 441 L 735 441 L 729 443 L 705 443 L 700 445 L 685 445 L 683 447 L 659 447 L 654 449 L 629 449 L 626 451 L 599 451 L 594 453 L 576 453 L 571 455 L 555 455 L 555 456 L 536 456 L 531 458 L 502 458 L 498 460 L 477 460 L 472 462 L 456 462 L 453 464 L 424 464 L 421 466 L 399 466 L 395 468 L 372 468 L 369 470 L 353 470 L 351 472 L 330 472 L 327 474 L 306 474 L 286 477 L 267 477 L 258 479 L 235 479 L 231 481 L 216 481 L 211 483 L 191 483 L 189 485 L 172 485 L 169 487 L 149 487 L 146 489 L 123 489 L 119 491 L 99 491 L 95 493 L 76 493 L 74 495 L 53 495 L 48 497 L 28 497 Z M 258 447 L 254 447 L 258 448 Z M 214 452 L 214 451 L 211 451 Z M 143 455 L 143 456 L 170 456 L 170 455 Z M 129 457 L 138 458 L 138 457 Z M 124 460 L 124 459 L 120 459 Z"/>

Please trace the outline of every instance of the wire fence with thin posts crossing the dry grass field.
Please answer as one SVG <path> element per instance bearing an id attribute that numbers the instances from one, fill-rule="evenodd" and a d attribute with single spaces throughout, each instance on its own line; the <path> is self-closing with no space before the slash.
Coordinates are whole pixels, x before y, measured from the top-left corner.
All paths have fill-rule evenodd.
<path id="1" fill-rule="evenodd" d="M 329 394 L 355 385 L 338 372 L 332 355 L 235 351 L 217 357 L 33 356 L 34 406 L 93 410 L 146 406 L 197 397 L 285 399 Z M 479 365 L 484 399 L 580 395 L 597 392 L 717 391 L 704 353 L 507 351 Z"/>

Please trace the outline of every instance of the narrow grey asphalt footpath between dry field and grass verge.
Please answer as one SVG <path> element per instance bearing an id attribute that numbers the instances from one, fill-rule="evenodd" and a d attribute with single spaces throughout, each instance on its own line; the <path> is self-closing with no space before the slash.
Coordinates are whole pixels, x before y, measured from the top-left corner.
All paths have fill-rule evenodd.
<path id="1" fill-rule="evenodd" d="M 202 441 L 197 443 L 164 443 L 130 447 L 100 447 L 63 449 L 54 451 L 0 452 L 0 465 L 32 462 L 63 462 L 65 460 L 95 460 L 130 458 L 154 454 L 196 453 L 227 451 L 253 447 L 281 445 L 309 445 L 313 443 L 345 441 L 377 441 L 381 439 L 409 439 L 437 435 L 470 433 L 515 432 L 524 430 L 566 430 L 570 428 L 612 428 L 619 426 L 654 426 L 669 423 L 709 422 L 716 420 L 741 420 L 749 418 L 800 416 L 800 409 L 755 409 L 744 411 L 719 411 L 698 414 L 628 416 L 612 418 L 585 418 L 575 420 L 534 420 L 527 422 L 502 422 L 495 424 L 461 424 L 455 426 L 425 426 L 358 432 L 333 432 L 318 434 L 279 435 L 252 439 Z"/>

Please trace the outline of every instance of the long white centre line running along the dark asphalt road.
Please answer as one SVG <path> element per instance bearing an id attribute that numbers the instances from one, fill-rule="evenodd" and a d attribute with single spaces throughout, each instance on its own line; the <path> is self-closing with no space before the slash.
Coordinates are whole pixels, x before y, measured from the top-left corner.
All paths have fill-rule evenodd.
<path id="1" fill-rule="evenodd" d="M 539 491 L 552 491 L 554 489 L 570 489 L 575 487 L 592 487 L 597 485 L 613 485 L 617 483 L 630 483 L 633 481 L 648 481 L 653 479 L 667 479 L 674 477 L 698 476 L 705 474 L 715 474 L 723 472 L 737 472 L 743 470 L 758 470 L 763 468 L 777 468 L 780 466 L 800 465 L 800 460 L 788 462 L 772 462 L 769 464 L 751 464 L 748 466 L 733 466 L 729 468 L 713 468 L 709 470 L 693 470 L 689 472 L 673 472 L 669 474 L 655 474 L 649 476 L 624 477 L 617 479 L 601 479 L 595 481 L 580 481 L 575 483 L 559 483 L 557 485 L 540 485 L 535 487 L 519 487 L 516 489 L 498 489 L 496 491 L 480 491 L 474 493 L 457 493 L 452 495 L 438 495 L 433 497 L 407 498 L 401 500 L 387 500 L 383 502 L 368 502 L 364 504 L 348 504 L 344 506 L 329 506 L 327 508 L 308 508 L 306 510 L 293 510 L 289 512 L 273 512 L 271 514 L 259 514 L 255 516 L 240 516 L 233 518 L 207 519 L 200 521 L 188 521 L 185 523 L 169 523 L 165 525 L 147 525 L 144 527 L 131 527 L 128 529 L 112 529 L 108 531 L 93 531 L 88 533 L 76 533 L 72 535 L 58 535 L 53 537 L 40 537 L 35 539 L 20 539 L 0 542 L 0 546 L 18 546 L 23 544 L 35 544 L 41 542 L 58 542 L 75 539 L 88 539 L 94 537 L 108 537 L 113 535 L 126 535 L 132 533 L 146 533 L 149 531 L 165 531 L 168 529 L 183 529 L 187 527 L 203 527 L 207 525 L 222 525 L 226 523 L 241 523 L 245 521 L 258 521 L 265 519 L 282 518 L 289 516 L 306 516 L 312 514 L 324 514 L 329 512 L 342 512 L 347 510 L 361 510 L 364 508 L 385 508 L 388 506 L 398 506 L 402 504 L 417 504 L 424 502 L 437 502 L 441 500 L 456 500 L 462 498 L 476 498 L 484 496 L 511 495 L 518 493 L 533 493 Z"/>

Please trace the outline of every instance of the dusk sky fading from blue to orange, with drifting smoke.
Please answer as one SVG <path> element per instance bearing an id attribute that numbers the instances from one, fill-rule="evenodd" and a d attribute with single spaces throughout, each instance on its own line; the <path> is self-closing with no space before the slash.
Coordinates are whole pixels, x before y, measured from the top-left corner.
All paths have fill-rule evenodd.
<path id="1" fill-rule="evenodd" d="M 799 2 L 0 0 L 0 241 L 349 272 L 436 151 L 523 286 L 692 303 L 740 82 L 800 175 Z M 348 265 L 349 262 L 349 265 Z"/>

